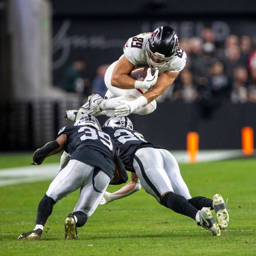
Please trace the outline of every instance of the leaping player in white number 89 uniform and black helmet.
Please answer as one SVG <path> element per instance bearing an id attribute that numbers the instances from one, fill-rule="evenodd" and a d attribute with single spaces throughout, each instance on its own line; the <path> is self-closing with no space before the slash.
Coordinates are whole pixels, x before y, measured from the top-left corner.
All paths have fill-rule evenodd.
<path id="1" fill-rule="evenodd" d="M 186 60 L 187 55 L 179 47 L 178 36 L 170 27 L 159 27 L 153 33 L 129 38 L 124 45 L 124 54 L 106 71 L 108 91 L 105 100 L 99 94 L 93 94 L 78 110 L 79 114 L 127 116 L 153 112 L 156 109 L 155 99 L 173 83 L 185 67 Z M 139 65 L 150 67 L 144 81 L 134 80 L 128 75 Z M 151 75 L 152 69 L 155 70 L 154 75 Z M 67 118 L 74 122 L 76 113 L 76 110 L 67 111 Z"/>

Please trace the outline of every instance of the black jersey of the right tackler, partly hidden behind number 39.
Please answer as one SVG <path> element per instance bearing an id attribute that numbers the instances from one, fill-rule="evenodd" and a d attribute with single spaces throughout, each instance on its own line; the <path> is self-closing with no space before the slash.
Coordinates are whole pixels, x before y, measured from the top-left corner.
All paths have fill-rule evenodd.
<path id="1" fill-rule="evenodd" d="M 133 158 L 139 148 L 163 148 L 154 143 L 147 142 L 139 132 L 121 127 L 101 126 L 101 130 L 110 135 L 119 148 L 119 157 L 127 171 L 135 172 Z"/>

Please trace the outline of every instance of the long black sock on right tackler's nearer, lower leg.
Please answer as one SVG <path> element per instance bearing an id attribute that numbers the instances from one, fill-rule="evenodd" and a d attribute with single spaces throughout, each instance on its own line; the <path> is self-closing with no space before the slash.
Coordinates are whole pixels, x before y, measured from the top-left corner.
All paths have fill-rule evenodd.
<path id="1" fill-rule="evenodd" d="M 162 204 L 174 212 L 186 215 L 196 220 L 196 213 L 198 210 L 193 205 L 189 204 L 184 196 L 169 192 L 164 195 Z"/>

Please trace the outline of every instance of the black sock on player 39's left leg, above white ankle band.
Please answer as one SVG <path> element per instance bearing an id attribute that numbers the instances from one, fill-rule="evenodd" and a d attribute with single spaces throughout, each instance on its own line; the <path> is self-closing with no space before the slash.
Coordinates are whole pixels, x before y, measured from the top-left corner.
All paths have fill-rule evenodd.
<path id="1" fill-rule="evenodd" d="M 36 225 L 44 226 L 48 217 L 52 214 L 52 209 L 56 202 L 52 197 L 44 196 L 37 207 Z"/>

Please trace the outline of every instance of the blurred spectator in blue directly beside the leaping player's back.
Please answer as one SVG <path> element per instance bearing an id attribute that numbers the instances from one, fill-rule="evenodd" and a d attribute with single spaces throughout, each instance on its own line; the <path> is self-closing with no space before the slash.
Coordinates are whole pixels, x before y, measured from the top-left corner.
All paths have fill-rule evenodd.
<path id="1" fill-rule="evenodd" d="M 105 93 L 107 92 L 104 76 L 108 66 L 109 65 L 100 65 L 97 68 L 97 76 L 92 81 L 92 93 L 98 93 L 102 97 L 104 97 Z"/>

